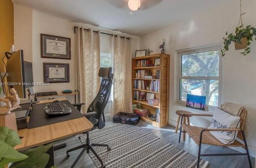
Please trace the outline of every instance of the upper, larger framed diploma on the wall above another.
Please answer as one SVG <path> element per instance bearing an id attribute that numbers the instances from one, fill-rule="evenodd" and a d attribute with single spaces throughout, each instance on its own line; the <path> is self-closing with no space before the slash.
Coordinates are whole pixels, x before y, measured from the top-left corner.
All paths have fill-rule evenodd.
<path id="1" fill-rule="evenodd" d="M 41 34 L 41 57 L 70 60 L 70 38 Z"/>

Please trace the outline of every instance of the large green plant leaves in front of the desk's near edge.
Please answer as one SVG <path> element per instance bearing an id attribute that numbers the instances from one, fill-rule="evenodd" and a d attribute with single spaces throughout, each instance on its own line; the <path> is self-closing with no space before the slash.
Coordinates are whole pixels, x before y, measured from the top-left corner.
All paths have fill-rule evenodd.
<path id="1" fill-rule="evenodd" d="M 25 150 L 23 154 L 13 148 L 17 144 L 21 144 L 18 133 L 7 127 L 0 127 L 0 168 L 11 162 L 14 163 L 10 168 L 44 168 L 46 166 L 50 158 L 46 152 L 53 143 Z"/>

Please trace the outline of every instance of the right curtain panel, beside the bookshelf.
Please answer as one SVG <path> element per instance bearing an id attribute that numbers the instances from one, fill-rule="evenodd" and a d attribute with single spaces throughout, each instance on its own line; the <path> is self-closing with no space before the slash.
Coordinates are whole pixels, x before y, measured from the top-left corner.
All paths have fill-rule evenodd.
<path id="1" fill-rule="evenodd" d="M 112 116 L 132 112 L 132 56 L 130 39 L 114 37 L 114 104 Z"/>

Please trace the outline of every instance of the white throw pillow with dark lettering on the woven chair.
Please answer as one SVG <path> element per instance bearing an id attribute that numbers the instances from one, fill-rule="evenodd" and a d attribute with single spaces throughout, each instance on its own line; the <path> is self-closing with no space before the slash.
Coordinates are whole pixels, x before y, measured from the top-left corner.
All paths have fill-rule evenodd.
<path id="1" fill-rule="evenodd" d="M 208 128 L 240 128 L 240 116 L 233 116 L 220 108 L 215 108 L 212 124 Z M 210 131 L 220 142 L 225 145 L 232 144 L 238 131 Z"/>

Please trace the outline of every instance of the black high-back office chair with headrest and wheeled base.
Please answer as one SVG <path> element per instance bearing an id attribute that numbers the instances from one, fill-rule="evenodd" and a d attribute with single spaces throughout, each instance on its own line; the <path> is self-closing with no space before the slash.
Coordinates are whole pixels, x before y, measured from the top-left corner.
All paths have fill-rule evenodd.
<path id="1" fill-rule="evenodd" d="M 112 86 L 113 76 L 114 76 L 114 74 L 111 74 L 111 72 L 112 72 L 111 67 L 100 68 L 99 73 L 98 73 L 98 76 L 102 77 L 102 81 L 100 84 L 100 90 L 99 90 L 96 98 L 90 104 L 90 106 L 87 110 L 87 113 L 84 114 L 84 116 L 86 118 L 88 118 L 90 120 L 90 122 L 92 122 L 92 124 L 94 124 L 94 127 L 92 128 L 92 130 L 94 130 L 95 128 L 101 129 L 105 126 L 104 108 L 106 107 L 108 98 L 110 96 L 110 91 L 111 91 L 111 86 Z M 80 103 L 74 104 L 74 105 L 79 110 L 82 106 L 82 104 L 80 104 Z M 110 150 L 110 147 L 107 144 L 90 143 L 89 132 L 85 132 L 85 133 L 87 134 L 86 144 L 82 144 L 80 146 L 77 146 L 75 148 L 67 150 L 67 157 L 69 157 L 71 151 L 74 151 L 74 150 L 77 150 L 80 148 L 84 148 L 82 150 L 82 152 L 79 154 L 79 156 L 76 158 L 75 162 L 72 164 L 71 168 L 73 168 L 75 166 L 75 164 L 78 162 L 78 160 L 80 159 L 82 154 L 85 151 L 87 151 L 87 153 L 89 153 L 89 150 L 91 150 L 92 153 L 94 153 L 94 155 L 96 156 L 96 158 L 98 158 L 98 160 L 101 163 L 102 168 L 105 168 L 106 166 L 103 164 L 102 160 L 100 159 L 98 154 L 96 154 L 96 152 L 94 151 L 92 146 L 106 146 L 108 151 Z"/>

